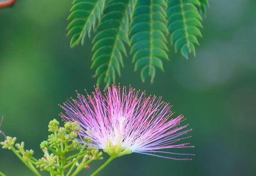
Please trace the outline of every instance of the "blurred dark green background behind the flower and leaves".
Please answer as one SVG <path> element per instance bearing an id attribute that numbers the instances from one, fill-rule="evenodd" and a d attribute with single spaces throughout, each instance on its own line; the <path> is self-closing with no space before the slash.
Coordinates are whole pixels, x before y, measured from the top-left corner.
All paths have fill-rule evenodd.
<path id="1" fill-rule="evenodd" d="M 210 0 L 197 56 L 184 59 L 170 47 L 154 84 L 143 84 L 125 59 L 122 85 L 163 96 L 193 128 L 193 161 L 140 154 L 117 158 L 101 176 L 256 175 L 256 1 Z M 18 0 L 0 10 L 0 114 L 2 130 L 25 141 L 36 156 L 47 124 L 60 119 L 58 103 L 75 90 L 93 91 L 91 39 L 69 48 L 65 37 L 71 0 Z M 3 140 L 3 136 L 0 136 Z M 100 161 L 98 164 L 102 164 Z M 84 174 L 88 175 L 97 166 Z M 9 150 L 0 149 L 0 171 L 31 176 Z"/>

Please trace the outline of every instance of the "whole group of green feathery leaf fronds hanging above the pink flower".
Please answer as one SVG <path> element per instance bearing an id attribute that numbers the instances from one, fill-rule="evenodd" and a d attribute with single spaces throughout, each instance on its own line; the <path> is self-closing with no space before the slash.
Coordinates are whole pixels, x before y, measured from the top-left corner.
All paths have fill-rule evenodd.
<path id="1" fill-rule="evenodd" d="M 121 75 L 129 46 L 134 70 L 141 70 L 143 82 L 150 77 L 152 83 L 156 68 L 164 70 L 163 60 L 168 60 L 168 40 L 184 57 L 195 55 L 207 6 L 208 0 L 73 0 L 70 46 L 96 33 L 91 68 L 97 84 L 106 85 Z"/>

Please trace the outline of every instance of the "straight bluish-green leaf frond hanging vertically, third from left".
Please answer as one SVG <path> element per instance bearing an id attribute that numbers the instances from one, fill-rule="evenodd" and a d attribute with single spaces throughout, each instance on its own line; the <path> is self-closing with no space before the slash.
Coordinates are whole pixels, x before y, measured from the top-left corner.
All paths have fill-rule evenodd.
<path id="1" fill-rule="evenodd" d="M 168 59 L 164 0 L 137 0 L 130 23 L 130 53 L 134 54 L 135 71 L 141 69 L 141 80 L 155 77 L 155 67 L 163 69 L 161 59 Z"/>

